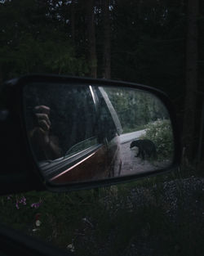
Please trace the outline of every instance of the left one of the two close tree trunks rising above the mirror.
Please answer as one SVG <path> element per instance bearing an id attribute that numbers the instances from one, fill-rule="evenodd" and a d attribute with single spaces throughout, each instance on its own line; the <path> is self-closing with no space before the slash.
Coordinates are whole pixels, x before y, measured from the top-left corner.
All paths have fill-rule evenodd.
<path id="1" fill-rule="evenodd" d="M 88 62 L 90 67 L 90 76 L 97 77 L 97 57 L 95 51 L 95 13 L 94 0 L 86 2 L 86 27 L 88 37 Z"/>

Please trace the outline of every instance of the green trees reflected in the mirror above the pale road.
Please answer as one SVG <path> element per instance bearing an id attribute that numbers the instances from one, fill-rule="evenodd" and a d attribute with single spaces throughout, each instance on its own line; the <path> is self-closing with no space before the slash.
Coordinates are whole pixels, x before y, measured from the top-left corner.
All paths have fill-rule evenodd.
<path id="1" fill-rule="evenodd" d="M 148 92 L 130 88 L 105 88 L 122 124 L 123 133 L 144 129 L 157 119 L 168 118 L 166 108 Z"/>

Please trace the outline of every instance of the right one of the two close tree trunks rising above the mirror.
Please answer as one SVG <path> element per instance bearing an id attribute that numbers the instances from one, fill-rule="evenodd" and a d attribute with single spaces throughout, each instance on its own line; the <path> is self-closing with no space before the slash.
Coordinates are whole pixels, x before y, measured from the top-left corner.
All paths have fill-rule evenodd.
<path id="1" fill-rule="evenodd" d="M 104 23 L 104 52 L 103 52 L 103 77 L 110 79 L 111 74 L 111 33 L 110 33 L 110 13 L 109 0 L 104 0 L 103 3 L 103 23 Z"/>

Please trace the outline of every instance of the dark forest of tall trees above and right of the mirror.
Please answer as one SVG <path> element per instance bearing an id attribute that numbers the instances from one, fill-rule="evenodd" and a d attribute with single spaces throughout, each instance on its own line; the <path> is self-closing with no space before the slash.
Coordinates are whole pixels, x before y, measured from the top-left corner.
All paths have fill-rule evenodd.
<path id="1" fill-rule="evenodd" d="M 0 82 L 51 73 L 162 89 L 175 105 L 184 162 L 201 163 L 203 12 L 198 0 L 2 0 Z"/>

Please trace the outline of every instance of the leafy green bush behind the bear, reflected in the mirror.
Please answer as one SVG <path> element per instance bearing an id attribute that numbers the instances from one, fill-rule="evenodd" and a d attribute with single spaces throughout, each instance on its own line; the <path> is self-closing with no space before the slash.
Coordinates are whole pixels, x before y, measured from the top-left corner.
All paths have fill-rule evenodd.
<path id="1" fill-rule="evenodd" d="M 146 133 L 140 137 L 153 141 L 160 159 L 172 159 L 174 138 L 170 119 L 157 119 L 146 125 Z"/>

